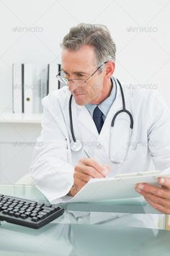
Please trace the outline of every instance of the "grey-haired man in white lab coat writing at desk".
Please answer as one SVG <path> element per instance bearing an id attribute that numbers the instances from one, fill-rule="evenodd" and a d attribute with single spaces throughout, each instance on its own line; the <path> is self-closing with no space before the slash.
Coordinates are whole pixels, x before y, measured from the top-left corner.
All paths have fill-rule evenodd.
<path id="1" fill-rule="evenodd" d="M 92 178 L 151 171 L 153 164 L 168 172 L 170 114 L 158 93 L 123 88 L 134 122 L 131 142 L 132 120 L 127 113 L 117 116 L 115 132 L 111 132 L 112 118 L 122 109 L 122 98 L 119 82 L 112 77 L 116 47 L 107 27 L 72 27 L 61 46 L 63 75 L 59 73 L 57 78 L 68 87 L 42 100 L 42 133 L 38 138 L 42 143 L 35 148 L 31 167 L 40 191 L 55 200 L 76 195 Z M 83 146 L 73 149 L 73 140 Z M 138 184 L 136 191 L 153 208 L 170 213 L 170 179 L 159 178 L 158 184 Z"/>

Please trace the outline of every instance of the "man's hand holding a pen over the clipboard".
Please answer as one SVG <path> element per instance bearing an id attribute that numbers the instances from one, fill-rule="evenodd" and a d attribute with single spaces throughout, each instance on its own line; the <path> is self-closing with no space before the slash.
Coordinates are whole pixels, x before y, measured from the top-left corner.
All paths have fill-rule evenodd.
<path id="1" fill-rule="evenodd" d="M 104 178 L 107 174 L 109 166 L 100 165 L 94 158 L 82 158 L 74 168 L 74 183 L 69 195 L 75 196 L 91 178 Z"/>

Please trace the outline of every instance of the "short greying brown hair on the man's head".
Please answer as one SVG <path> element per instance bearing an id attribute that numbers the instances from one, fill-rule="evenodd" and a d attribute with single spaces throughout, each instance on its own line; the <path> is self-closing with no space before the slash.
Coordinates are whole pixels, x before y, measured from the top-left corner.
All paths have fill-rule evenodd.
<path id="1" fill-rule="evenodd" d="M 105 61 L 115 61 L 115 42 L 106 26 L 81 23 L 71 27 L 61 43 L 62 48 L 71 51 L 77 51 L 84 45 L 94 48 L 98 66 Z"/>

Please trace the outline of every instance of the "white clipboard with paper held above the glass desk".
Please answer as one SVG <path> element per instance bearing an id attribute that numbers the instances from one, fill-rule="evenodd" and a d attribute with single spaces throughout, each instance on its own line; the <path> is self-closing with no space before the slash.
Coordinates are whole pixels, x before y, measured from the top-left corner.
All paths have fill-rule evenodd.
<path id="1" fill-rule="evenodd" d="M 135 192 L 138 183 L 158 185 L 160 171 L 146 171 L 133 174 L 120 174 L 115 178 L 91 179 L 69 202 L 89 202 L 98 200 L 115 200 L 124 198 L 140 197 Z"/>

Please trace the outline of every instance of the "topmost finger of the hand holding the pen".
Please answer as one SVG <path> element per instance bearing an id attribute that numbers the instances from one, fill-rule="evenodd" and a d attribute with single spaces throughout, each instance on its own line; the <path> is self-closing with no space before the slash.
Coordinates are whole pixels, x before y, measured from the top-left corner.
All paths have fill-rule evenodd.
<path id="1" fill-rule="evenodd" d="M 108 168 L 97 163 L 94 158 L 82 158 L 81 163 L 84 163 L 85 166 L 91 166 L 95 168 L 99 174 L 102 174 L 102 176 L 106 176 L 109 173 Z"/>

